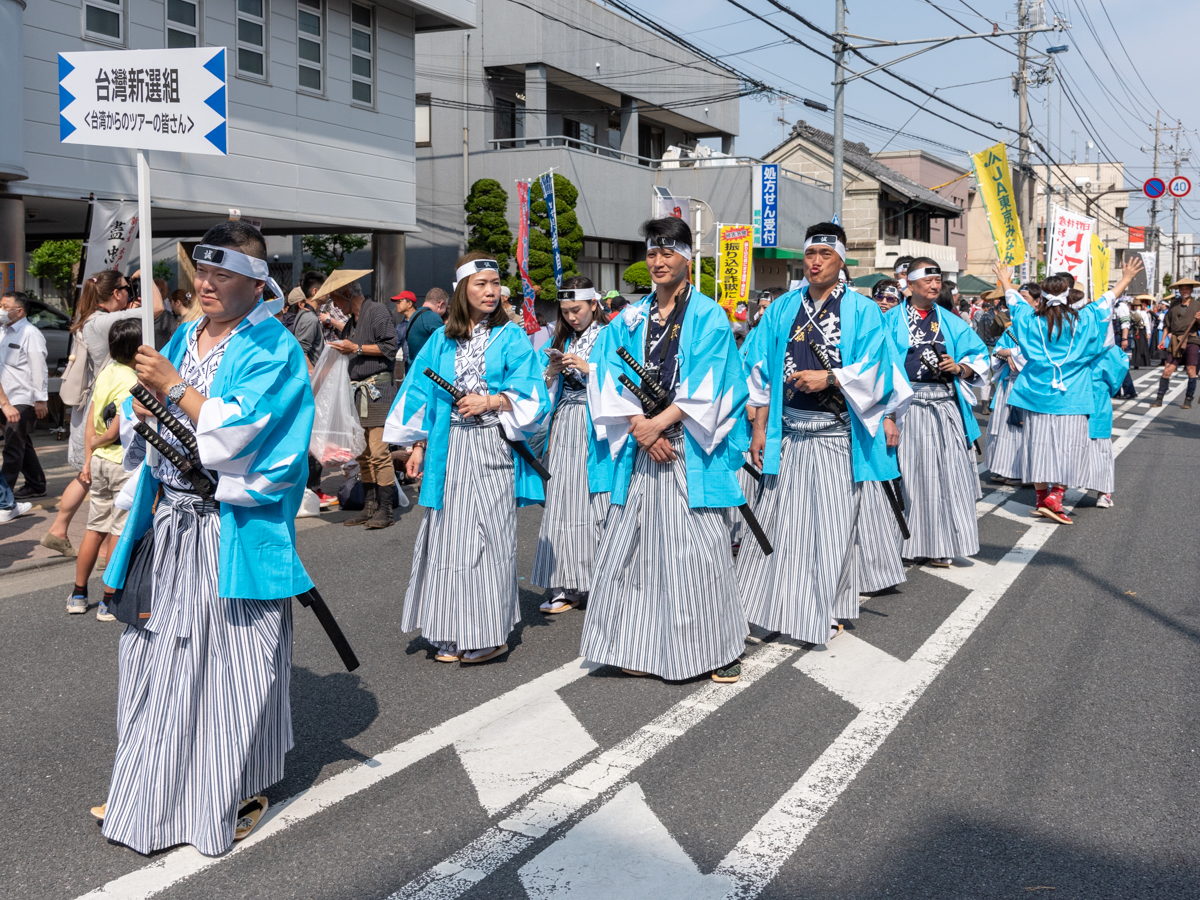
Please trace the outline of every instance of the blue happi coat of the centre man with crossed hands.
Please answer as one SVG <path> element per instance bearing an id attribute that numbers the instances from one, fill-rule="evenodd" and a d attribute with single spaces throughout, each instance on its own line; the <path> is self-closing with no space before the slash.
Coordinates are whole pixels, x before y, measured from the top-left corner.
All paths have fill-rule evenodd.
<path id="1" fill-rule="evenodd" d="M 596 340 L 588 360 L 588 410 L 598 439 L 607 443 L 613 461 L 612 502 L 625 504 L 634 475 L 637 442 L 629 439 L 629 418 L 642 404 L 618 380 L 622 373 L 640 379 L 617 355 L 624 347 L 644 364 L 646 326 L 654 295 L 622 310 Z M 733 473 L 742 451 L 730 432 L 746 402 L 742 358 L 730 319 L 714 300 L 691 288 L 679 332 L 679 384 L 674 403 L 683 413 L 688 505 L 692 509 L 740 506 L 745 503 Z"/>

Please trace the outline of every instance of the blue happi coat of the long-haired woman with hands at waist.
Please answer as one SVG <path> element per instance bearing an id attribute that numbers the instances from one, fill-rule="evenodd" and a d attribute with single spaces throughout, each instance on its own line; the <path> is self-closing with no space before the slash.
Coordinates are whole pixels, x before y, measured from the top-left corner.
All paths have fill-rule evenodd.
<path id="1" fill-rule="evenodd" d="M 454 384 L 456 349 L 457 341 L 446 337 L 444 328 L 430 335 L 396 394 L 383 430 L 383 439 L 390 444 L 410 446 L 418 440 L 428 442 L 420 502 L 430 509 L 442 509 L 445 496 L 452 402 L 446 391 L 425 376 L 425 370 L 432 368 Z M 512 404 L 512 409 L 499 413 L 500 427 L 512 440 L 527 439 L 550 409 L 546 382 L 528 335 L 511 322 L 493 328 L 487 337 L 484 367 L 488 392 L 503 394 Z M 546 494 L 541 479 L 524 460 L 516 454 L 514 457 L 517 504 L 542 503 Z"/>

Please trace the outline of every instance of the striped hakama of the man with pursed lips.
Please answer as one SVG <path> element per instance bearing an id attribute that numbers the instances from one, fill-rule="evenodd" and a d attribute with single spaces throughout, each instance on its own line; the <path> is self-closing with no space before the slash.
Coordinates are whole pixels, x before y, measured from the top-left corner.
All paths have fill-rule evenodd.
<path id="1" fill-rule="evenodd" d="M 737 574 L 746 618 L 826 643 L 833 619 L 858 616 L 850 426 L 830 413 L 785 409 L 779 474 L 763 475 L 755 515 L 775 552 L 764 556 L 754 540 L 742 545 Z"/>

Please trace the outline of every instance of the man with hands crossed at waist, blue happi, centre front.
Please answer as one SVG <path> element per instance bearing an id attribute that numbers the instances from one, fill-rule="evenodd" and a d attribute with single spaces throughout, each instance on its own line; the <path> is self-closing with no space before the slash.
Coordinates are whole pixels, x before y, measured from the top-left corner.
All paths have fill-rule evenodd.
<path id="1" fill-rule="evenodd" d="M 581 653 L 630 674 L 731 683 L 749 634 L 725 520 L 745 502 L 730 440 L 745 377 L 728 317 L 688 281 L 691 229 L 655 218 L 642 234 L 654 293 L 608 323 L 589 359 L 588 408 L 613 475 Z M 647 418 L 622 376 L 638 392 L 658 386 L 666 408 Z"/>

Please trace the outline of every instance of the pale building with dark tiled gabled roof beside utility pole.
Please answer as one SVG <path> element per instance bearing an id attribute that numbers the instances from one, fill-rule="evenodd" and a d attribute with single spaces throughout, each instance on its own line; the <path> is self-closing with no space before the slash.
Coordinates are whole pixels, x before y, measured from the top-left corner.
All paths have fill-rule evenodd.
<path id="1" fill-rule="evenodd" d="M 787 140 L 766 158 L 830 181 L 833 136 L 798 121 Z M 960 252 L 966 250 L 966 227 L 960 222 L 966 210 L 965 185 L 955 181 L 935 192 L 925 182 L 936 187 L 964 172 L 924 151 L 896 151 L 877 158 L 865 144 L 846 142 L 842 227 L 854 260 L 847 260 L 851 274 L 890 272 L 898 257 L 926 256 L 952 277 L 956 275 L 964 262 Z"/>

